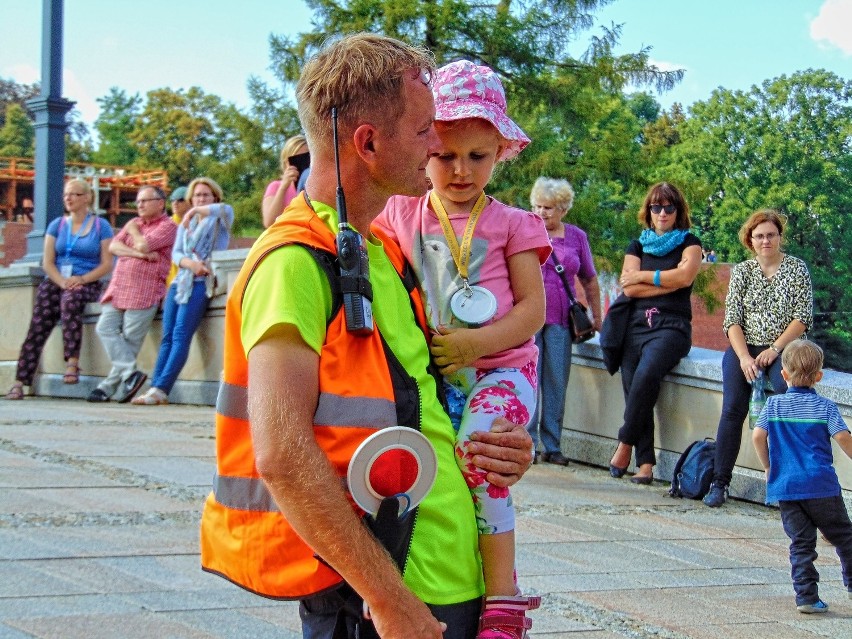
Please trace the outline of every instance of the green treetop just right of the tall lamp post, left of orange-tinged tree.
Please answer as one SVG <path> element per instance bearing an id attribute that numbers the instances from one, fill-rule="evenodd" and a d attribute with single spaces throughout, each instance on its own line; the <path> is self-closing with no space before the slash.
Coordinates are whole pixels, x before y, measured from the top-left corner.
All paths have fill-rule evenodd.
<path id="1" fill-rule="evenodd" d="M 101 112 L 95 120 L 95 130 L 100 144 L 92 160 L 98 164 L 134 166 L 139 160 L 139 150 L 131 142 L 130 134 L 141 115 L 142 98 L 138 93 L 128 95 L 123 89 L 112 87 L 97 102 Z"/>

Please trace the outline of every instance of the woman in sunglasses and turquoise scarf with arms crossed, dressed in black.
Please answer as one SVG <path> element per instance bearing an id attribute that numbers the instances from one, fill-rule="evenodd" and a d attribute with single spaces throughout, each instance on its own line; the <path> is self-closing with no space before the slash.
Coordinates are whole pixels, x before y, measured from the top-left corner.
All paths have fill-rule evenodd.
<path id="1" fill-rule="evenodd" d="M 621 269 L 620 284 L 630 300 L 621 353 L 624 425 L 609 470 L 622 477 L 635 449 L 638 470 L 630 481 L 650 484 L 657 463 L 654 405 L 660 385 L 692 346 L 690 295 L 701 266 L 701 241 L 689 232 L 686 200 L 667 182 L 648 190 L 638 218 L 645 230 L 627 247 Z"/>

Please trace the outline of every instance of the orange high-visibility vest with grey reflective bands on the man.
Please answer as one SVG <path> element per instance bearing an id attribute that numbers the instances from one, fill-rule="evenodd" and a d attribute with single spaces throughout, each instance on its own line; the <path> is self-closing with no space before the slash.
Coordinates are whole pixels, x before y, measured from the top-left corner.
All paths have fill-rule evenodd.
<path id="1" fill-rule="evenodd" d="M 410 269 L 401 251 L 391 240 L 379 239 L 406 281 Z M 243 295 L 266 255 L 296 243 L 336 253 L 334 234 L 303 194 L 255 242 L 228 297 L 224 374 L 216 402 L 216 477 L 201 519 L 202 568 L 276 599 L 304 598 L 342 582 L 293 530 L 260 479 L 247 414 L 248 363 L 240 337 Z M 419 293 L 413 285 L 406 288 L 428 336 Z M 376 430 L 419 428 L 419 389 L 413 378 L 398 373 L 401 367 L 389 365 L 395 359 L 389 351 L 378 327 L 372 335 L 353 336 L 346 331 L 342 310 L 330 319 L 319 360 L 314 434 L 341 481 L 355 449 Z"/>

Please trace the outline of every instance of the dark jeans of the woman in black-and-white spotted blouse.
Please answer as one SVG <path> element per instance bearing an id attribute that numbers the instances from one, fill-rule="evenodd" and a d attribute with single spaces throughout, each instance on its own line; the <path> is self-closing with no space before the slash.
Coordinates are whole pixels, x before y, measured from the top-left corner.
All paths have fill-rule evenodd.
<path id="1" fill-rule="evenodd" d="M 766 350 L 766 346 L 748 347 L 752 357 Z M 781 377 L 781 358 L 772 362 L 766 371 L 776 393 L 787 392 L 787 382 Z M 716 458 L 713 462 L 713 482 L 722 486 L 731 483 L 734 464 L 742 443 L 743 422 L 748 414 L 751 382 L 740 368 L 740 358 L 733 347 L 722 356 L 722 414 L 716 431 Z"/>

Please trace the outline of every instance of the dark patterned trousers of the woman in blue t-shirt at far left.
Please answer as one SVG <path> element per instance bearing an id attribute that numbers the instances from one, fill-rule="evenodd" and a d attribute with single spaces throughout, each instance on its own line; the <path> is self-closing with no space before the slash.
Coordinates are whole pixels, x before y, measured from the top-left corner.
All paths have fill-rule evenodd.
<path id="1" fill-rule="evenodd" d="M 36 302 L 30 330 L 21 346 L 18 357 L 18 372 L 15 379 L 24 386 L 32 386 L 44 343 L 53 327 L 62 322 L 62 343 L 65 361 L 80 356 L 83 338 L 83 309 L 101 294 L 101 283 L 91 282 L 74 290 L 62 290 L 48 278 L 44 278 L 36 291 Z"/>

